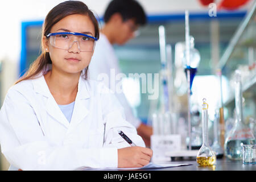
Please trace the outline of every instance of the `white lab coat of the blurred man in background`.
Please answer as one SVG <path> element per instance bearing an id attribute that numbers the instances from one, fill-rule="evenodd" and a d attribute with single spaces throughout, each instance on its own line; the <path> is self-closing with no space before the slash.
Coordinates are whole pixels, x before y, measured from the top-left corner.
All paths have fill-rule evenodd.
<path id="1" fill-rule="evenodd" d="M 111 72 L 114 73 L 114 75 Z M 106 38 L 104 34 L 100 34 L 100 39 L 96 42 L 92 60 L 89 64 L 88 73 L 89 78 L 92 80 L 98 80 L 98 76 L 101 73 L 108 75 L 109 79 L 104 80 L 106 81 L 105 85 L 114 92 L 115 97 L 118 98 L 118 101 L 125 109 L 126 120 L 134 127 L 139 127 L 139 125 L 141 125 L 141 120 L 134 116 L 125 94 L 118 93 L 117 90 L 115 90 L 115 86 L 117 86 L 119 82 L 119 78 L 115 80 L 115 76 L 120 73 L 118 58 L 115 55 L 112 44 L 110 44 L 108 38 Z"/>

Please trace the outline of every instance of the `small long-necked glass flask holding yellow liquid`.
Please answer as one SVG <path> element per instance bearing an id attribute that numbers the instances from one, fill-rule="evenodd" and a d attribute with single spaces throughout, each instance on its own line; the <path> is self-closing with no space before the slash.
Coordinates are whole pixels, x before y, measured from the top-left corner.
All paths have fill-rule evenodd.
<path id="1" fill-rule="evenodd" d="M 203 99 L 202 124 L 203 124 L 203 145 L 196 156 L 196 162 L 200 166 L 212 166 L 216 162 L 216 155 L 209 146 L 208 139 L 208 104 Z"/>

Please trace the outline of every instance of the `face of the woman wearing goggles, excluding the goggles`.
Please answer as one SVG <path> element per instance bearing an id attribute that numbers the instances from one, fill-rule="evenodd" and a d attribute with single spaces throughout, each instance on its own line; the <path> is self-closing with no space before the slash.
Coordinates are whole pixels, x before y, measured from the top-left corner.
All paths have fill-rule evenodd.
<path id="1" fill-rule="evenodd" d="M 61 19 L 51 28 L 54 32 L 79 32 L 90 36 L 95 36 L 94 26 L 89 16 L 73 14 Z M 53 47 L 49 39 L 44 38 L 44 46 L 48 49 L 52 60 L 52 69 L 58 69 L 60 72 L 80 73 L 86 68 L 93 52 L 81 52 L 77 43 L 68 50 Z"/>

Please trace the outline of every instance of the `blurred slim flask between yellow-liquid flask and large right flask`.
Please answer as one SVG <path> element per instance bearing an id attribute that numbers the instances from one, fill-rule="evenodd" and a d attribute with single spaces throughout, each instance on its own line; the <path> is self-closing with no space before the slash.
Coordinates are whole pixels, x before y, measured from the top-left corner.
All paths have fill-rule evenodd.
<path id="1" fill-rule="evenodd" d="M 219 119 L 220 119 L 220 113 L 219 110 L 217 109 L 214 114 L 214 123 L 213 123 L 213 135 L 214 135 L 214 140 L 212 144 L 212 150 L 216 154 L 217 159 L 221 159 L 224 155 L 224 151 L 221 147 L 221 144 L 219 142 L 219 134 L 218 131 L 220 131 L 220 125 L 219 124 Z"/>

